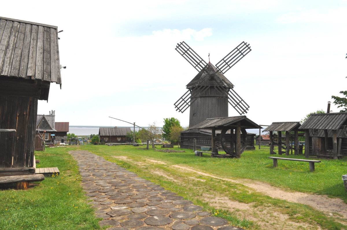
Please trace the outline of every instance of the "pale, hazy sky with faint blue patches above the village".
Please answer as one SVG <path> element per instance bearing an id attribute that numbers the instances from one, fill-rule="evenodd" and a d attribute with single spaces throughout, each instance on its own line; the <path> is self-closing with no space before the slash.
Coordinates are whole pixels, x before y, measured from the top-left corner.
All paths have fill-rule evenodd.
<path id="1" fill-rule="evenodd" d="M 347 1 L 6 1 L 0 16 L 58 26 L 62 88 L 38 114 L 70 125 L 189 124 L 174 103 L 198 73 L 185 41 L 216 64 L 242 41 L 252 51 L 225 76 L 257 124 L 327 110 L 347 83 Z M 331 104 L 333 112 L 339 108 Z M 229 106 L 229 116 L 239 114 Z"/>

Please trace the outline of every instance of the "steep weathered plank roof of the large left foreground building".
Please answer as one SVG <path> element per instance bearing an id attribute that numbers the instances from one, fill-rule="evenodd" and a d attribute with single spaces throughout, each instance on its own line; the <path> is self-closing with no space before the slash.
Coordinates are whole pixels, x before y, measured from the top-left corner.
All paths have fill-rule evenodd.
<path id="1" fill-rule="evenodd" d="M 61 85 L 58 27 L 0 17 L 0 76 Z"/>

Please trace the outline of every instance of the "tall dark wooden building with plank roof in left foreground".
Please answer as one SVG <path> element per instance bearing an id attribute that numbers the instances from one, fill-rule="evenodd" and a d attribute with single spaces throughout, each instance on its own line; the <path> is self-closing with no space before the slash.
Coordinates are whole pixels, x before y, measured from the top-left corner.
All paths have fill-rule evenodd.
<path id="1" fill-rule="evenodd" d="M 0 17 L 0 176 L 34 174 L 37 100 L 51 82 L 61 85 L 57 27 Z"/>

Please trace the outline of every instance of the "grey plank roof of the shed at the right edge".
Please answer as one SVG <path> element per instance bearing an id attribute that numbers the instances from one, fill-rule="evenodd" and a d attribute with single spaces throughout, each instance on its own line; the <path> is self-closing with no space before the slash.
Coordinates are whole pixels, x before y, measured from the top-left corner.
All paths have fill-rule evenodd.
<path id="1" fill-rule="evenodd" d="M 347 125 L 347 113 L 312 113 L 300 129 L 338 130 L 342 125 Z"/>

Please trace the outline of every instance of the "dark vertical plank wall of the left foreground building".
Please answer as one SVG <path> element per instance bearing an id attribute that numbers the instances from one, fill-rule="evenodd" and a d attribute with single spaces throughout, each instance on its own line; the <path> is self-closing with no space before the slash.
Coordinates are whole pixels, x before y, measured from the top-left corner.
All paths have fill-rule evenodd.
<path id="1" fill-rule="evenodd" d="M 0 95 L 0 168 L 32 167 L 37 98 Z M 13 157 L 13 165 L 12 165 Z"/>

